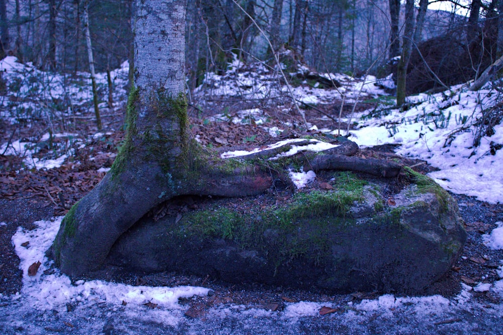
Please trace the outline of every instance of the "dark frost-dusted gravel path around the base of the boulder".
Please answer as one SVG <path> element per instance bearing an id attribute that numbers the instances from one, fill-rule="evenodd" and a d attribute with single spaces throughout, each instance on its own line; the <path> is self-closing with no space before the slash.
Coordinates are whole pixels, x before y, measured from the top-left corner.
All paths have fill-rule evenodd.
<path id="1" fill-rule="evenodd" d="M 487 248 L 481 238 L 482 234 L 496 227 L 496 221 L 503 221 L 503 205 L 480 202 L 464 195 L 453 196 L 466 222 L 468 240 L 454 270 L 426 292 L 442 294 L 450 300 L 459 295 L 461 282 L 493 283 L 498 280 L 496 268 L 503 260 L 503 251 Z M 490 292 L 471 292 L 470 303 L 466 306 L 446 307 L 442 312 L 426 316 L 411 307 L 397 308 L 392 314 L 382 311 L 348 314 L 351 310 L 348 304 L 377 299 L 380 293 L 329 295 L 260 284 L 234 285 L 173 273 L 115 278 L 133 285 L 201 285 L 213 290 L 211 296 L 182 299 L 181 311 L 178 311 L 181 314 L 173 325 L 157 321 L 149 316 L 148 311 L 145 315 L 131 315 L 122 306 L 110 304 L 92 308 L 89 305 L 68 305 L 65 313 L 39 311 L 24 305 L 21 299 L 13 299 L 15 292 L 21 289 L 21 272 L 10 239 L 17 227 L 29 229 L 34 220 L 48 218 L 51 214 L 50 208 L 36 208 L 36 203 L 30 204 L 22 199 L 0 201 L 0 221 L 6 223 L 0 226 L 0 290 L 4 294 L 0 299 L 2 333 L 502 333 L 501 298 Z M 329 305 L 336 311 L 325 316 L 286 317 L 290 301 L 313 301 Z M 261 312 L 267 313 L 262 315 Z"/>

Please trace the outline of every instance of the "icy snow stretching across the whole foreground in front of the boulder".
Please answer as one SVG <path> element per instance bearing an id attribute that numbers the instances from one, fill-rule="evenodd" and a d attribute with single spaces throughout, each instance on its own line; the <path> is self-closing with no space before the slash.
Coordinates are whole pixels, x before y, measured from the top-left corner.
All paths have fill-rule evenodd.
<path id="1" fill-rule="evenodd" d="M 479 333 L 487 333 L 480 331 L 483 325 L 474 324 L 471 317 L 485 313 L 486 329 L 500 325 L 503 317 L 503 306 L 490 303 L 482 306 L 470 293 L 471 290 L 490 291 L 503 296 L 502 279 L 494 284 L 480 283 L 474 288 L 463 285 L 460 294 L 450 299 L 439 295 L 397 297 L 385 294 L 360 302 L 348 300 L 342 306 L 316 301 L 286 303 L 285 309 L 277 312 L 228 303 L 210 307 L 202 318 L 190 319 L 184 316 L 186 307 L 180 305 L 178 299 L 204 296 L 209 289 L 130 286 L 100 280 L 72 282 L 60 274 L 45 257 L 45 251 L 54 240 L 61 219 L 34 222 L 35 229 L 20 228 L 12 238 L 21 260 L 23 287 L 18 294 L 0 297 L 0 312 L 4 315 L 0 329 L 18 329 L 5 333 L 48 334 L 54 331 L 56 323 L 58 326 L 70 324 L 68 329 L 74 328 L 72 330 L 77 333 L 92 334 L 104 331 L 110 322 L 113 329 L 128 334 L 145 329 L 148 333 L 326 333 L 317 329 L 319 327 L 333 331 L 347 328 L 344 333 L 355 334 L 376 331 L 436 333 L 442 329 L 450 329 L 453 333 L 473 333 L 478 329 Z M 490 235 L 494 243 L 503 245 L 503 236 L 494 233 L 498 229 Z M 39 261 L 41 265 L 36 275 L 29 276 L 28 268 Z M 498 273 L 503 276 L 503 266 Z M 336 308 L 337 312 L 321 316 L 322 307 Z M 38 316 L 34 319 L 34 315 Z M 376 319 L 384 329 L 367 328 L 369 320 Z"/>

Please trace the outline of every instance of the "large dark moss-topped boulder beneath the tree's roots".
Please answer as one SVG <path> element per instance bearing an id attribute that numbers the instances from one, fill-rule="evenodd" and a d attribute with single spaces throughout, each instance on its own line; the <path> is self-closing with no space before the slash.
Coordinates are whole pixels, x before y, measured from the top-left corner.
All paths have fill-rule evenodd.
<path id="1" fill-rule="evenodd" d="M 450 271 L 466 232 L 457 203 L 433 180 L 410 169 L 393 187 L 348 172 L 324 177 L 332 175 L 333 189 L 281 204 L 219 199 L 182 216 L 144 218 L 108 264 L 339 292 L 420 293 Z"/>

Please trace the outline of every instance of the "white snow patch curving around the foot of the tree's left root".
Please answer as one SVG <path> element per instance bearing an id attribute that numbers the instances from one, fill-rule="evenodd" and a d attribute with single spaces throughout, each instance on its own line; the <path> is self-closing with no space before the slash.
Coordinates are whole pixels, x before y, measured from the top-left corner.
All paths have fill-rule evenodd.
<path id="1" fill-rule="evenodd" d="M 19 299 L 39 310 L 65 311 L 70 302 L 127 304 L 131 311 L 142 304 L 151 302 L 164 309 L 179 310 L 179 298 L 194 295 L 207 295 L 209 289 L 202 287 L 147 287 L 109 283 L 101 280 L 79 280 L 72 284 L 70 278 L 52 268 L 52 261 L 45 256 L 56 236 L 63 217 L 53 221 L 36 221 L 36 229 L 23 230 L 21 227 L 12 237 L 16 253 L 20 258 L 20 269 L 23 272 L 23 288 Z M 22 244 L 29 242 L 27 247 Z M 30 265 L 41 262 L 35 276 L 28 276 Z"/>

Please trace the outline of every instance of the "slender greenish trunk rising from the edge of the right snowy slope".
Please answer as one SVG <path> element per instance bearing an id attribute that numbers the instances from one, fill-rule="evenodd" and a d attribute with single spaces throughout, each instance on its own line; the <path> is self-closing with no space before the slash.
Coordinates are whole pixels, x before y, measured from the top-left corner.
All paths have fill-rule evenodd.
<path id="1" fill-rule="evenodd" d="M 405 79 L 407 67 L 412 53 L 412 38 L 414 34 L 414 0 L 405 3 L 405 31 L 402 37 L 402 54 L 396 70 L 396 105 L 405 103 L 406 87 Z"/>

